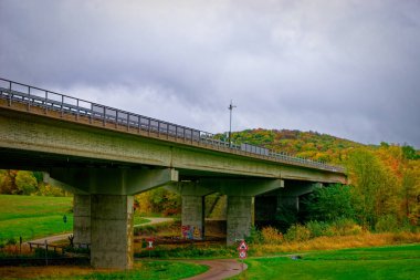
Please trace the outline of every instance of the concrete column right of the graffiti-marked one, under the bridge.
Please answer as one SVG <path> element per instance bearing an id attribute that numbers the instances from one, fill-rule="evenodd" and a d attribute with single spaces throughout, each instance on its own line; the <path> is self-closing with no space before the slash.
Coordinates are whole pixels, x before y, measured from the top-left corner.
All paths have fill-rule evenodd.
<path id="1" fill-rule="evenodd" d="M 253 200 L 252 196 L 228 196 L 228 245 L 250 236 L 253 225 Z"/>

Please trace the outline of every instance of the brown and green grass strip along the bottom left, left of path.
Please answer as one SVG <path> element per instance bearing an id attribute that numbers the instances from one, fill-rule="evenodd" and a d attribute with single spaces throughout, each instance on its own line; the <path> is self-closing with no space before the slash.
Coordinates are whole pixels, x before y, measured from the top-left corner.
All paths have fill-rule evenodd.
<path id="1" fill-rule="evenodd" d="M 136 262 L 133 270 L 113 271 L 87 267 L 0 267 L 1 279 L 60 279 L 60 280 L 105 280 L 105 279 L 185 279 L 207 271 L 195 263 L 169 261 Z"/>

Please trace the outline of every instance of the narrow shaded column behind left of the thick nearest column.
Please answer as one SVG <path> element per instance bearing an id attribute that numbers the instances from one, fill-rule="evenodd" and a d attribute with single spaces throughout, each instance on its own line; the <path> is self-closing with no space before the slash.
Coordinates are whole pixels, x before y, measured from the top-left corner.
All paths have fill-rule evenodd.
<path id="1" fill-rule="evenodd" d="M 91 243 L 91 196 L 74 195 L 73 236 L 76 243 Z"/>

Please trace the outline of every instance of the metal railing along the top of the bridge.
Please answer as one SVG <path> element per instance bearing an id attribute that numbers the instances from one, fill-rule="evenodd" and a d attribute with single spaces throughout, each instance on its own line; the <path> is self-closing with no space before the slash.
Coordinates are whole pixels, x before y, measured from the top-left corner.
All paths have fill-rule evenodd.
<path id="1" fill-rule="evenodd" d="M 72 114 L 76 120 L 78 120 L 80 116 L 84 116 L 90 118 L 91 122 L 99 121 L 104 126 L 111 123 L 115 124 L 116 127 L 125 126 L 127 127 L 127 131 L 135 128 L 138 133 L 155 133 L 161 138 L 169 138 L 169 136 L 183 138 L 185 142 L 190 142 L 191 144 L 203 143 L 235 152 L 241 151 L 248 155 L 259 155 L 276 162 L 315 167 L 337 173 L 344 172 L 343 167 L 327 165 L 324 162 L 295 157 L 286 153 L 275 153 L 267 148 L 246 143 L 237 145 L 234 143 L 217 139 L 216 135 L 212 133 L 164 122 L 1 77 L 0 98 L 7 100 L 9 106 L 11 106 L 12 103 L 18 102 L 27 104 L 28 110 L 30 110 L 31 106 L 38 106 L 44 108 L 45 112 L 55 111 L 61 112 L 62 115 Z"/>

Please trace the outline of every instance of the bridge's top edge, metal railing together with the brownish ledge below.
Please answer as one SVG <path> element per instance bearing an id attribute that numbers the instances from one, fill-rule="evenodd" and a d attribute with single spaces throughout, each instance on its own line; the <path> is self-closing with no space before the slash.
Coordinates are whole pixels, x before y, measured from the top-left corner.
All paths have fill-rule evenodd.
<path id="1" fill-rule="evenodd" d="M 122 133 L 158 138 L 185 145 L 241 156 L 261 158 L 311 169 L 344 174 L 344 168 L 322 162 L 275 153 L 253 145 L 235 145 L 216 138 L 214 134 L 159 121 L 139 114 L 92 103 L 81 98 L 0 79 L 0 106 Z"/>

